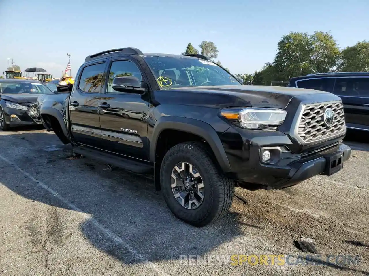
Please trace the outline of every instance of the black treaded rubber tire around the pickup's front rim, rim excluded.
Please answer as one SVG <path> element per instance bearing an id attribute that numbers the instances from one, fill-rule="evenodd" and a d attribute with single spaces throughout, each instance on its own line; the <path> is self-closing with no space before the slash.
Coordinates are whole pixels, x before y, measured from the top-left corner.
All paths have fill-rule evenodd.
<path id="1" fill-rule="evenodd" d="M 170 178 L 173 168 L 179 162 L 188 162 L 195 166 L 204 183 L 203 202 L 197 209 L 186 209 L 173 195 Z M 203 142 L 183 142 L 166 152 L 160 170 L 161 189 L 165 202 L 172 213 L 193 226 L 201 227 L 223 217 L 231 208 L 234 195 L 234 181 L 225 177 L 210 148 Z"/>

